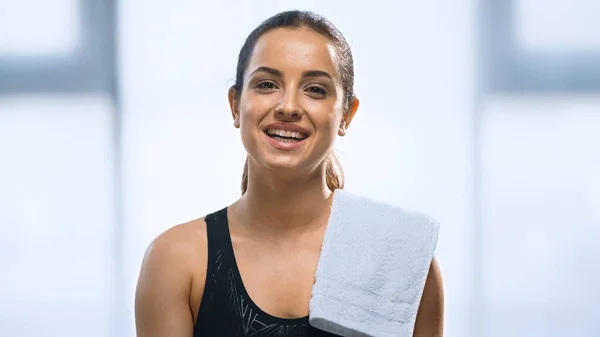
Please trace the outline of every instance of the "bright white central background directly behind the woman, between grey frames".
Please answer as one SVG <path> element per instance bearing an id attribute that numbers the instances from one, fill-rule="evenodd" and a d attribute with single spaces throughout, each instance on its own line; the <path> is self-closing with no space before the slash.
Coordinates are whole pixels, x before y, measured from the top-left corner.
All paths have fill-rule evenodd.
<path id="1" fill-rule="evenodd" d="M 473 4 L 317 3 L 122 2 L 129 312 L 150 240 L 239 196 L 244 151 L 226 100 L 237 53 L 260 21 L 300 8 L 331 19 L 353 48 L 361 108 L 338 146 L 348 189 L 442 221 L 446 331 L 468 336 Z"/>

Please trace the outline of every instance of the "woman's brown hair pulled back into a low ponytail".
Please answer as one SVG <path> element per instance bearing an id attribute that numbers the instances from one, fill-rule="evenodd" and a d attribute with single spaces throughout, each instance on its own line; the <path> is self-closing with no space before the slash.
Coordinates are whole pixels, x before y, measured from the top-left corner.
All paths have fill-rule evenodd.
<path id="1" fill-rule="evenodd" d="M 342 33 L 327 19 L 310 11 L 286 11 L 276 14 L 263 21 L 246 38 L 238 56 L 236 78 L 233 89 L 236 95 L 241 95 L 244 85 L 244 72 L 248 67 L 252 51 L 258 39 L 266 32 L 275 28 L 301 28 L 306 27 L 316 33 L 327 37 L 337 50 L 337 68 L 340 73 L 344 90 L 344 111 L 354 98 L 354 61 L 350 46 Z M 327 187 L 330 190 L 344 188 L 344 173 L 335 153 L 330 152 L 326 158 L 325 176 Z M 244 164 L 242 174 L 242 194 L 248 189 L 248 158 Z"/>

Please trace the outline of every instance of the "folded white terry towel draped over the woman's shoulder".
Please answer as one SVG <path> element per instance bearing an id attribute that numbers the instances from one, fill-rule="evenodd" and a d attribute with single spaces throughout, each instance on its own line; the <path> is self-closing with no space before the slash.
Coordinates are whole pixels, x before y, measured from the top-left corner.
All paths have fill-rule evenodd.
<path id="1" fill-rule="evenodd" d="M 424 214 L 336 191 L 310 324 L 347 337 L 411 337 L 438 231 Z"/>

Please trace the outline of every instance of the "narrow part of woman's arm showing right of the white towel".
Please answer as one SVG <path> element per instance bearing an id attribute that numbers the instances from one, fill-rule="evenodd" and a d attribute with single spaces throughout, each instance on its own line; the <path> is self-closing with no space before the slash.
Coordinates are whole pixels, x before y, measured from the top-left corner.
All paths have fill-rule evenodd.
<path id="1" fill-rule="evenodd" d="M 440 266 L 434 258 L 425 281 L 413 337 L 442 337 L 443 332 L 444 289 Z"/>

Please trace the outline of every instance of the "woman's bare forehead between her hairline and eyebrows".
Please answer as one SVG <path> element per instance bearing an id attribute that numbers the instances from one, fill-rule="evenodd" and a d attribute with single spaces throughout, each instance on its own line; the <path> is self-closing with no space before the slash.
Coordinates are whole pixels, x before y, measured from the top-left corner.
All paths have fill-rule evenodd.
<path id="1" fill-rule="evenodd" d="M 335 47 L 325 36 L 306 28 L 277 28 L 263 34 L 252 52 L 248 70 L 259 66 L 284 74 L 322 70 L 337 77 Z"/>

